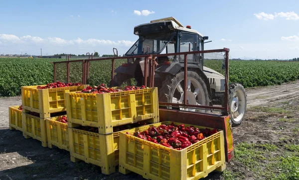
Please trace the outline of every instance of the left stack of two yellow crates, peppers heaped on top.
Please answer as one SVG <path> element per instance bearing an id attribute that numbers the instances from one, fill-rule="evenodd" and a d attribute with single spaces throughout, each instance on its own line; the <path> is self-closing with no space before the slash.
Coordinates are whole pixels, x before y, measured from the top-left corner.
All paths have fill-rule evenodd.
<path id="1" fill-rule="evenodd" d="M 70 85 L 70 86 L 68 86 Z M 66 115 L 65 93 L 81 91 L 86 85 L 68 84 L 64 87 L 22 86 L 22 131 L 23 136 L 41 141 L 48 147 L 46 119 Z M 50 145 L 51 147 L 51 145 Z"/>

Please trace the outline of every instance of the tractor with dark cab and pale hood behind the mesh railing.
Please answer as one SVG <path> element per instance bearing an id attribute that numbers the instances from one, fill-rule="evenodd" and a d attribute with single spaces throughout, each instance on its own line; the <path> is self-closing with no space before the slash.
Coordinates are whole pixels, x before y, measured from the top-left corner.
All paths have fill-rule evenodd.
<path id="1" fill-rule="evenodd" d="M 211 41 L 191 26 L 184 27 L 174 17 L 151 20 L 134 27 L 139 39 L 126 52 L 128 62 L 115 69 L 116 75 L 110 85 L 122 86 L 144 84 L 144 54 L 158 54 L 154 68 L 154 87 L 158 87 L 159 102 L 181 104 L 184 93 L 191 105 L 223 105 L 225 95 L 225 76 L 205 65 L 203 53 L 188 54 L 187 91 L 184 92 L 184 58 L 175 53 L 204 51 L 204 44 Z M 136 58 L 132 58 L 136 57 Z M 221 64 L 220 64 L 221 66 Z M 222 62 L 222 70 L 225 69 Z M 221 69 L 221 68 L 220 68 Z M 246 93 L 239 83 L 229 84 L 229 112 L 233 126 L 241 124 L 246 112 Z M 167 107 L 183 111 L 207 113 L 211 110 L 195 107 Z M 222 114 L 225 112 L 222 112 Z"/>

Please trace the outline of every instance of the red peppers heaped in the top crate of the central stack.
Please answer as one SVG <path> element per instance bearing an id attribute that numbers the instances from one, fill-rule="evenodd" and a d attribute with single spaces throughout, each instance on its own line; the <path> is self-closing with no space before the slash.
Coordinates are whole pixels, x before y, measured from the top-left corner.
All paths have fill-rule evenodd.
<path id="1" fill-rule="evenodd" d="M 122 89 L 113 89 L 113 88 L 108 88 L 106 87 L 105 84 L 101 84 L 99 86 L 87 86 L 84 88 L 82 91 L 77 92 L 77 93 L 94 93 L 94 94 L 103 94 L 103 93 L 113 93 L 113 92 L 120 92 L 120 91 L 132 91 L 132 90 L 138 90 L 138 89 L 146 89 L 146 86 L 126 86 L 124 90 Z"/>

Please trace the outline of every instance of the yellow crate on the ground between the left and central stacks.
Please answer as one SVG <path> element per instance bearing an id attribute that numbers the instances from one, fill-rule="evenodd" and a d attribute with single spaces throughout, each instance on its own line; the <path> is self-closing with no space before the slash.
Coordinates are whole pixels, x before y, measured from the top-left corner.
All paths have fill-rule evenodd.
<path id="1" fill-rule="evenodd" d="M 59 117 L 62 116 L 46 119 L 48 147 L 56 146 L 70 151 L 68 127 L 67 124 L 57 121 Z"/>

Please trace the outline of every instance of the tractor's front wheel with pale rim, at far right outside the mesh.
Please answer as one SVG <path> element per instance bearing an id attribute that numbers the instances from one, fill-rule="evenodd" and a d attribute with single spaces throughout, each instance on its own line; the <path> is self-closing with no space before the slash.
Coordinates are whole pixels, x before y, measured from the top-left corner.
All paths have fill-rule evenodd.
<path id="1" fill-rule="evenodd" d="M 229 86 L 229 107 L 232 126 L 239 126 L 246 113 L 247 97 L 241 84 L 232 83 Z"/>

